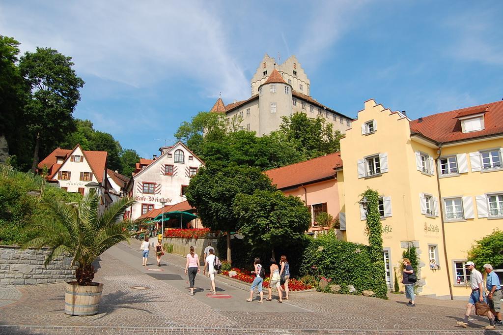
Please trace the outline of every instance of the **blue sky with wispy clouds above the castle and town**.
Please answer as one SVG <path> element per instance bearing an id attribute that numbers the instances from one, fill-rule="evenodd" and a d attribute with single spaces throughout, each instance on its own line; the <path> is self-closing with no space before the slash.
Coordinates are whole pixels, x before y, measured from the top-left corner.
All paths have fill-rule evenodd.
<path id="1" fill-rule="evenodd" d="M 124 5 L 127 4 L 127 5 Z M 503 2 L 3 1 L 0 34 L 72 56 L 75 117 L 143 157 L 184 120 L 248 98 L 265 53 L 295 54 L 311 95 L 411 118 L 503 98 Z"/>

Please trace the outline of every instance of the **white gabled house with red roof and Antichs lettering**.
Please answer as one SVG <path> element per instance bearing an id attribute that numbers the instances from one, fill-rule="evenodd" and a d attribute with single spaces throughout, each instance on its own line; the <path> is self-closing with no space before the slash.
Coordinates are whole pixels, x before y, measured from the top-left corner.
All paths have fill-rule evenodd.
<path id="1" fill-rule="evenodd" d="M 68 192 L 85 195 L 86 184 L 96 182 L 107 189 L 107 152 L 57 148 L 38 164 L 38 173 Z"/>

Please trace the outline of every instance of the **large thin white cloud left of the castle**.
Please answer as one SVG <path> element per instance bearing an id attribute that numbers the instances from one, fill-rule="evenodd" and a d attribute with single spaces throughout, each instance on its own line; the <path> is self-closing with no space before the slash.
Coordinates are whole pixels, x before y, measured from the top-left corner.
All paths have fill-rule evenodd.
<path id="1" fill-rule="evenodd" d="M 54 2 L 31 9 L 4 4 L 0 30 L 21 41 L 23 51 L 50 46 L 71 55 L 82 76 L 132 87 L 183 76 L 197 80 L 202 95 L 224 90 L 246 96 L 247 80 L 228 48 L 223 18 L 205 4 Z"/>

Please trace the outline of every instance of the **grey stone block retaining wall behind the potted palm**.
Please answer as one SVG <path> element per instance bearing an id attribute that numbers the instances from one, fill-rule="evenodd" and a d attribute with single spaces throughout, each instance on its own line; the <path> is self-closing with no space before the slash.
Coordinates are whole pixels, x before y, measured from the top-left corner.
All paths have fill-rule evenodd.
<path id="1" fill-rule="evenodd" d="M 47 254 L 47 249 L 21 250 L 0 245 L 0 285 L 48 284 L 75 279 L 71 257 L 58 257 L 44 267 Z"/>

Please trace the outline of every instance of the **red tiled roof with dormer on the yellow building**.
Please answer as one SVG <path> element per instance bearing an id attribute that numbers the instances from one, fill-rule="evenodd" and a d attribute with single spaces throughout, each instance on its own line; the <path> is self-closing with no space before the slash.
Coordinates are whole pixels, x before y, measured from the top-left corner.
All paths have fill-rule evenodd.
<path id="1" fill-rule="evenodd" d="M 463 133 L 461 131 L 461 121 L 457 117 L 460 115 L 466 116 L 473 113 L 481 113 L 483 111 L 485 111 L 484 130 Z M 422 122 L 419 119 L 411 121 L 410 131 L 412 134 L 420 133 L 435 142 L 441 143 L 503 133 L 503 101 L 425 116 L 422 118 Z"/>

